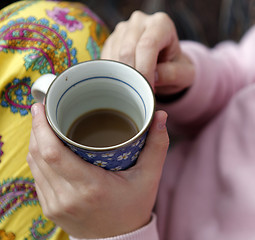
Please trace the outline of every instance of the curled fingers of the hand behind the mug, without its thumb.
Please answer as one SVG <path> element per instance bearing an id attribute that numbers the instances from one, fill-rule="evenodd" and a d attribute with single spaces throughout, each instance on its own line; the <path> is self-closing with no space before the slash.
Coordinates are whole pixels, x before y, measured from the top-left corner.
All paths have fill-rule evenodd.
<path id="1" fill-rule="evenodd" d="M 158 61 L 174 61 L 180 54 L 177 33 L 167 14 L 136 11 L 128 21 L 116 26 L 105 43 L 102 58 L 136 68 L 154 88 Z"/>

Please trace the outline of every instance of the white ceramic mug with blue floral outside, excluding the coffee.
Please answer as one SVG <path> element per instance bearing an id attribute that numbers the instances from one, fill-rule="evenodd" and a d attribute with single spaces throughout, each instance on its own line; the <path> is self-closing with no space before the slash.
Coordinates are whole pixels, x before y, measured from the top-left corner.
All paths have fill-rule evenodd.
<path id="1" fill-rule="evenodd" d="M 138 71 L 116 61 L 87 61 L 68 68 L 59 76 L 42 75 L 33 84 L 32 95 L 39 102 L 45 98 L 45 112 L 51 128 L 84 160 L 112 171 L 135 164 L 155 109 L 151 86 Z M 136 123 L 139 132 L 110 147 L 85 146 L 66 136 L 75 119 L 102 108 L 125 113 Z"/>

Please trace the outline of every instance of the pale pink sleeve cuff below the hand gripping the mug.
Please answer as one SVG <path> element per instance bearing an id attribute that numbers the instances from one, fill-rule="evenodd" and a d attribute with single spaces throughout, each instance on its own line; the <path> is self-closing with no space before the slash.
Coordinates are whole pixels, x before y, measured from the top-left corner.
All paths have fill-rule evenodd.
<path id="1" fill-rule="evenodd" d="M 156 216 L 152 215 L 152 220 L 150 223 L 134 232 L 123 234 L 116 237 L 110 238 L 100 238 L 94 240 L 159 240 L 158 231 L 156 226 Z M 69 237 L 70 240 L 89 240 L 89 239 L 77 239 L 73 237 Z"/>

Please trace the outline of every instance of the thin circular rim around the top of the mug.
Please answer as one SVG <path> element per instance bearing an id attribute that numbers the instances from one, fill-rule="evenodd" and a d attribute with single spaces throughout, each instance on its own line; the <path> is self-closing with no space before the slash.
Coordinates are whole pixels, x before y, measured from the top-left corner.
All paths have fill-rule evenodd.
<path id="1" fill-rule="evenodd" d="M 89 63 L 89 62 L 113 62 L 113 63 L 117 63 L 117 64 L 122 64 L 122 65 L 125 65 L 127 66 L 128 68 L 134 70 L 136 73 L 138 73 L 139 75 L 141 75 L 141 77 L 145 80 L 145 82 L 147 83 L 147 85 L 149 86 L 149 89 L 150 89 L 150 92 L 151 92 L 151 95 L 153 97 L 153 109 L 152 109 L 152 114 L 151 116 L 149 116 L 149 120 L 147 122 L 147 124 L 142 128 L 142 130 L 140 130 L 135 136 L 133 136 L 132 138 L 128 139 L 127 141 L 125 142 L 122 142 L 120 144 L 116 144 L 116 145 L 113 145 L 113 146 L 108 146 L 108 147 L 92 147 L 92 146 L 87 146 L 87 145 L 83 145 L 83 144 L 80 144 L 80 143 L 77 143 L 73 140 L 71 140 L 70 138 L 68 138 L 67 136 L 65 136 L 56 126 L 55 124 L 53 123 L 50 115 L 49 115 L 49 110 L 47 108 L 47 102 L 48 102 L 48 94 L 50 92 L 50 89 L 51 87 L 53 86 L 53 84 L 57 81 L 58 78 L 60 78 L 65 72 L 67 72 L 70 68 L 74 68 L 74 67 L 77 67 L 77 65 L 82 65 L 82 64 L 85 64 L 85 63 Z M 84 149 L 84 150 L 90 150 L 90 151 L 96 151 L 96 152 L 105 152 L 105 151 L 111 151 L 111 150 L 116 150 L 116 149 L 119 149 L 119 148 L 123 148 L 125 146 L 128 146 L 130 145 L 131 143 L 137 141 L 140 137 L 142 137 L 150 128 L 151 126 L 151 123 L 152 123 L 152 120 L 154 118 L 154 114 L 155 114 L 155 105 L 156 105 L 156 100 L 155 100 L 155 95 L 154 95 L 154 92 L 153 92 L 153 89 L 149 83 L 149 81 L 144 77 L 144 75 L 142 73 L 140 73 L 138 70 L 136 70 L 134 67 L 126 64 L 126 63 L 122 63 L 122 62 L 119 62 L 119 61 L 116 61 L 116 60 L 110 60 L 110 59 L 95 59 L 95 60 L 88 60 L 88 61 L 84 61 L 84 62 L 80 62 L 80 63 L 77 63 L 67 69 L 65 69 L 62 73 L 60 73 L 60 75 L 56 76 L 55 79 L 52 81 L 52 83 L 50 84 L 48 90 L 47 90 L 47 93 L 46 93 L 46 96 L 45 96 L 45 114 L 46 114 L 46 118 L 47 118 L 47 121 L 48 123 L 50 124 L 51 128 L 53 129 L 53 131 L 55 132 L 55 134 L 60 138 L 62 139 L 65 143 L 69 144 L 69 145 L 73 145 L 77 148 L 80 148 L 80 149 Z"/>

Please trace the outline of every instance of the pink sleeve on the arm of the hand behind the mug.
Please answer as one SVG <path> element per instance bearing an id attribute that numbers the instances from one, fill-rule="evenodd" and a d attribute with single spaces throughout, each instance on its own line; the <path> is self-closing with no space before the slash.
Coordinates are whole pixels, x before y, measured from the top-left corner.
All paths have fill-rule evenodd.
<path id="1" fill-rule="evenodd" d="M 255 79 L 255 27 L 237 44 L 223 42 L 214 49 L 195 42 L 181 42 L 195 65 L 195 83 L 180 100 L 160 106 L 172 123 L 200 128 L 210 121 L 231 97 Z"/>

